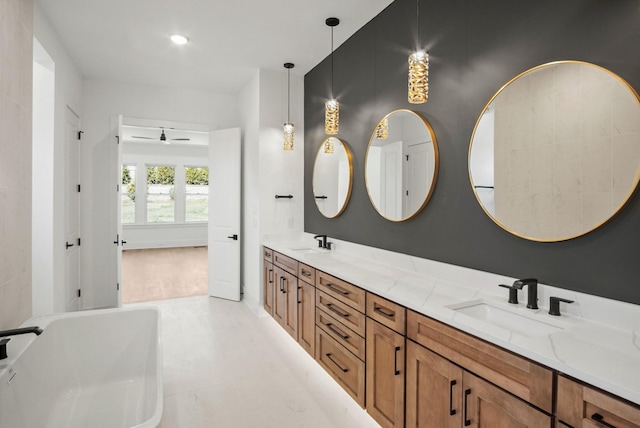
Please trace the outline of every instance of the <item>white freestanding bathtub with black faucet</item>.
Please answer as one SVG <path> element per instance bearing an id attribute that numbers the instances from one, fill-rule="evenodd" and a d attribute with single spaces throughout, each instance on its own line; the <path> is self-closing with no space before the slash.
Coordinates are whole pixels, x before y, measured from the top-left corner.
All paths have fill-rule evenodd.
<path id="1" fill-rule="evenodd" d="M 32 318 L 0 360 L 1 428 L 156 427 L 160 311 L 99 309 Z M 14 343 L 12 343 L 14 342 Z"/>

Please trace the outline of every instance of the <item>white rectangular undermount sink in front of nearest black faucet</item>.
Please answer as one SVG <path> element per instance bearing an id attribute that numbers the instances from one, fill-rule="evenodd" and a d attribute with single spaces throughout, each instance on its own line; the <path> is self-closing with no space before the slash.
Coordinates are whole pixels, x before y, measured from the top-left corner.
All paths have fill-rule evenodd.
<path id="1" fill-rule="evenodd" d="M 564 330 L 562 326 L 535 317 L 544 316 L 527 313 L 529 309 L 509 308 L 487 300 L 472 300 L 450 305 L 450 309 L 479 321 L 506 329 L 526 337 L 546 336 Z"/>

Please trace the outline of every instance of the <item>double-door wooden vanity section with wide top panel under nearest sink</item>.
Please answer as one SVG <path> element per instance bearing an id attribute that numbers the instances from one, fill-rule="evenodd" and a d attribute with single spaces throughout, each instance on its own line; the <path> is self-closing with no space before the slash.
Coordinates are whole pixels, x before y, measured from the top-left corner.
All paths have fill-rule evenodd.
<path id="1" fill-rule="evenodd" d="M 551 427 L 550 369 L 413 311 L 407 337 L 407 427 Z"/>

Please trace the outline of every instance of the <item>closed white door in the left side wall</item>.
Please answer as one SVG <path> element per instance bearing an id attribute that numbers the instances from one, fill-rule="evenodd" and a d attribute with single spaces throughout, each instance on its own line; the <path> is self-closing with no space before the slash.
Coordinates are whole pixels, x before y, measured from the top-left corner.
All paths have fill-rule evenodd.
<path id="1" fill-rule="evenodd" d="M 65 310 L 77 311 L 80 296 L 80 119 L 66 110 L 65 120 Z"/>

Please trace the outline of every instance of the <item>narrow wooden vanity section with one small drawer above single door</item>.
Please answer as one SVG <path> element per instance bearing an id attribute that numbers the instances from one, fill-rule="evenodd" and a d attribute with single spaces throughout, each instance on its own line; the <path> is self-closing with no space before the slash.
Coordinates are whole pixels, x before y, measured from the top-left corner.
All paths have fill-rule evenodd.
<path id="1" fill-rule="evenodd" d="M 366 296 L 367 412 L 384 428 L 404 427 L 406 309 Z"/>

